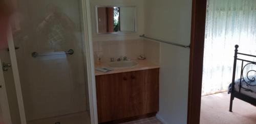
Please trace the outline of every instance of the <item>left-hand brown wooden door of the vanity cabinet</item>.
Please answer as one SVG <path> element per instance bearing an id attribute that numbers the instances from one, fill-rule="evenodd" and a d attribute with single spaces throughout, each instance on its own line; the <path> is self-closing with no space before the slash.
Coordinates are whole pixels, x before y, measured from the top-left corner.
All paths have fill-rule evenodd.
<path id="1" fill-rule="evenodd" d="M 127 84 L 131 72 L 96 76 L 99 122 L 125 118 L 127 113 Z"/>

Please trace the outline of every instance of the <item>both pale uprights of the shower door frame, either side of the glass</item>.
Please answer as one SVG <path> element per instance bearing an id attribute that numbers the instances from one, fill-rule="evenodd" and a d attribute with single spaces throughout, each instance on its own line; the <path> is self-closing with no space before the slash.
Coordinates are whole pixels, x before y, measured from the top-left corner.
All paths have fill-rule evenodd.
<path id="1" fill-rule="evenodd" d="M 89 104 L 90 104 L 90 118 L 92 124 L 98 123 L 98 114 L 97 114 L 97 98 L 96 98 L 96 84 L 95 84 L 95 72 L 94 72 L 94 57 L 93 57 L 93 42 L 92 42 L 92 27 L 91 27 L 91 12 L 90 12 L 90 0 L 79 0 L 81 3 L 82 14 L 82 51 L 84 64 L 87 65 L 87 81 L 88 81 L 88 92 L 89 92 Z M 14 41 L 12 36 L 11 27 L 8 31 L 8 44 L 10 48 L 11 63 L 13 65 L 13 77 L 15 82 L 15 89 L 18 101 L 18 109 L 20 115 L 20 121 L 22 124 L 27 124 L 27 119 L 25 115 L 22 88 L 20 86 L 17 59 L 14 49 Z M 13 123 L 14 124 L 14 123 Z M 85 124 L 85 123 L 84 123 Z"/>

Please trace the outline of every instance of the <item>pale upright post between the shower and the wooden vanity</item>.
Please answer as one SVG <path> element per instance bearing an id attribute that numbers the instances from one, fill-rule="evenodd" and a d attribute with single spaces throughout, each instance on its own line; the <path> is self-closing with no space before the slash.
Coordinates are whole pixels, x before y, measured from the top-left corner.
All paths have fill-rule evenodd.
<path id="1" fill-rule="evenodd" d="M 83 47 L 85 50 L 84 56 L 87 61 L 88 72 L 88 87 L 89 87 L 89 103 L 90 103 L 90 115 L 91 123 L 98 124 L 98 112 L 97 112 L 97 97 L 96 97 L 96 81 L 95 81 L 95 67 L 94 67 L 94 55 L 93 55 L 93 40 L 92 40 L 92 22 L 91 22 L 91 7 L 90 0 L 82 1 L 82 18 L 83 18 L 83 33 L 84 41 Z"/>

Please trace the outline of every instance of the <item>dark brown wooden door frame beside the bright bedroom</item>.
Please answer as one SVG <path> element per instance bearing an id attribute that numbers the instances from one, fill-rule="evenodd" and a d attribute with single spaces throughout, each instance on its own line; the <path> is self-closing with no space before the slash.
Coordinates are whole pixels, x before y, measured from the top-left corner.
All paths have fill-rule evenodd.
<path id="1" fill-rule="evenodd" d="M 192 4 L 187 124 L 199 124 L 207 0 Z"/>

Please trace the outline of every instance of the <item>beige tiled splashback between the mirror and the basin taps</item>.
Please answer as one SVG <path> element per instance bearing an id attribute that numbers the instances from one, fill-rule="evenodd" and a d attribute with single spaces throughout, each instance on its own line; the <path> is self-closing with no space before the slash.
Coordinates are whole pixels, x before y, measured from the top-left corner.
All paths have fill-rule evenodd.
<path id="1" fill-rule="evenodd" d="M 124 56 L 136 60 L 140 55 L 145 55 L 148 61 L 159 64 L 159 43 L 150 40 L 94 41 L 93 48 L 95 62 L 98 61 L 98 56 L 105 63 L 110 62 L 111 57 L 115 61 Z"/>

